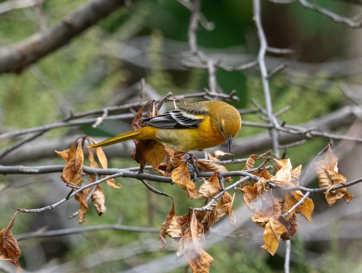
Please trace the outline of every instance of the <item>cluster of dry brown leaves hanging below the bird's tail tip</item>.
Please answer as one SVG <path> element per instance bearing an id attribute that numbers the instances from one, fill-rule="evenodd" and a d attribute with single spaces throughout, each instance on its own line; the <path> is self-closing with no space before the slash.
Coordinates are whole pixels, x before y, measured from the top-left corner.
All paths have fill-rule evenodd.
<path id="1" fill-rule="evenodd" d="M 88 137 L 93 143 L 94 140 Z M 72 146 L 64 151 L 55 151 L 60 157 L 62 157 L 65 162 L 66 166 L 63 169 L 62 175 L 60 178 L 63 180 L 64 183 L 82 187 L 84 183 L 84 174 L 83 174 L 83 164 L 84 164 L 84 142 L 85 138 L 77 139 Z M 77 144 L 78 143 L 78 144 Z M 102 166 L 102 168 L 108 167 L 107 158 L 102 151 L 101 148 L 95 148 L 97 158 Z M 98 168 L 98 163 L 94 160 L 93 149 L 88 148 L 88 161 L 89 166 L 92 168 Z M 89 175 L 88 184 L 93 183 L 96 181 L 96 175 Z M 106 181 L 107 184 L 114 189 L 119 189 L 120 187 L 115 185 L 114 179 L 109 179 Z M 83 224 L 85 221 L 85 214 L 88 211 L 88 196 L 91 193 L 93 187 L 86 188 L 85 190 L 77 193 L 75 195 L 75 200 L 79 201 L 80 208 L 79 208 L 79 224 Z M 75 191 L 73 189 L 72 191 Z M 96 209 L 99 216 L 101 216 L 105 211 L 106 207 L 105 203 L 105 196 L 102 192 L 102 188 L 100 185 L 97 186 L 96 190 L 92 193 L 91 196 L 92 204 Z"/>

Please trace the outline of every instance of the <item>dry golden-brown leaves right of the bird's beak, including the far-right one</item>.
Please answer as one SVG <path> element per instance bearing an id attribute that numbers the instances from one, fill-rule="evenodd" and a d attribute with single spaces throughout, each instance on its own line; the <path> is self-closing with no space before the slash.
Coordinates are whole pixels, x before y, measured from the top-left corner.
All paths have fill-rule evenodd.
<path id="1" fill-rule="evenodd" d="M 254 166 L 254 159 L 257 155 L 251 155 L 244 169 L 251 169 Z M 254 214 L 252 221 L 258 226 L 265 228 L 264 241 L 265 245 L 261 248 L 267 250 L 274 255 L 278 248 L 279 239 L 290 240 L 290 238 L 298 230 L 297 214 L 304 216 L 312 223 L 312 212 L 314 209 L 313 201 L 310 198 L 295 205 L 302 200 L 304 194 L 301 191 L 278 191 L 269 187 L 269 183 L 273 183 L 279 188 L 292 188 L 299 186 L 299 176 L 302 165 L 295 169 L 292 168 L 289 159 L 273 159 L 275 163 L 275 175 L 269 174 L 265 168 L 254 172 L 254 175 L 260 177 L 258 182 L 252 182 L 252 186 L 244 186 L 240 188 L 243 192 L 244 203 L 248 209 Z M 337 199 L 343 198 L 347 203 L 352 199 L 346 188 L 333 190 L 333 187 L 344 184 L 346 178 L 338 174 L 337 156 L 333 154 L 330 147 L 325 158 L 315 163 L 317 177 L 320 188 L 328 188 L 325 192 L 325 198 L 331 206 Z M 261 207 L 256 207 L 252 202 L 261 199 Z"/>

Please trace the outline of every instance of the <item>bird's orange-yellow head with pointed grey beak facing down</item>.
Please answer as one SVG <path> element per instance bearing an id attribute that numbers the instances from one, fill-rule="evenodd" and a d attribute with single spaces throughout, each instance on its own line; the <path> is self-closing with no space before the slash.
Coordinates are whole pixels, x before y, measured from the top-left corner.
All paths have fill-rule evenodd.
<path id="1" fill-rule="evenodd" d="M 231 105 L 223 107 L 220 109 L 219 119 L 216 120 L 216 126 L 218 126 L 220 133 L 225 137 L 229 146 L 229 152 L 231 153 L 232 143 L 241 127 L 239 111 Z"/>

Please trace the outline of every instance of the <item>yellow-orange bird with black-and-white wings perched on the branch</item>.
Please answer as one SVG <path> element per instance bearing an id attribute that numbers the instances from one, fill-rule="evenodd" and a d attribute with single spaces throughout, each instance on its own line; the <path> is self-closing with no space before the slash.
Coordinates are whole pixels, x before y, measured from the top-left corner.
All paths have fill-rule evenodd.
<path id="1" fill-rule="evenodd" d="M 142 128 L 88 147 L 105 147 L 130 139 L 154 139 L 189 152 L 227 142 L 231 153 L 233 141 L 241 128 L 239 111 L 222 101 L 196 102 L 139 121 Z"/>

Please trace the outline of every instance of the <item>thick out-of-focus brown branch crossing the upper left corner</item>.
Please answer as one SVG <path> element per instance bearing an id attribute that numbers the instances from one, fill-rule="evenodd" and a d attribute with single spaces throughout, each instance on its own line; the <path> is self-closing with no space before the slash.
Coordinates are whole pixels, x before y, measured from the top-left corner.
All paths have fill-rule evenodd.
<path id="1" fill-rule="evenodd" d="M 55 27 L 36 33 L 18 44 L 0 48 L 0 73 L 22 72 L 126 3 L 129 1 L 93 0 L 73 11 Z"/>

